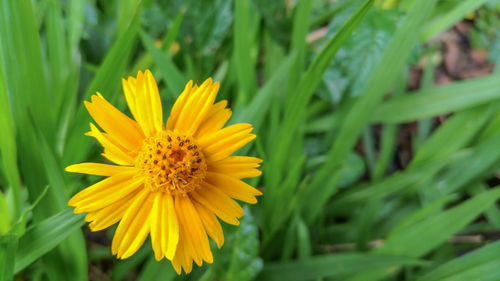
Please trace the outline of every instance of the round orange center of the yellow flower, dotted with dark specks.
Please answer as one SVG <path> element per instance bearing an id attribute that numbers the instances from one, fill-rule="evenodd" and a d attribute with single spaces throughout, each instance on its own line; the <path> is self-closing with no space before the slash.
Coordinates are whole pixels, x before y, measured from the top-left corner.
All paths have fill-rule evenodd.
<path id="1" fill-rule="evenodd" d="M 205 178 L 207 163 L 193 138 L 164 131 L 144 140 L 135 166 L 152 191 L 186 194 Z"/>

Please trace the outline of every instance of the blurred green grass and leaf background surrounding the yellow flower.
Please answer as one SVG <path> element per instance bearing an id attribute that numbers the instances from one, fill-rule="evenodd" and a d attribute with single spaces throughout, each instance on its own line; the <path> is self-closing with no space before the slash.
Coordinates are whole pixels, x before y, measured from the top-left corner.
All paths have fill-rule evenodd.
<path id="1" fill-rule="evenodd" d="M 0 280 L 500 280 L 499 60 L 499 0 L 0 0 Z M 130 114 L 145 69 L 164 114 L 220 81 L 264 159 L 188 276 L 67 206 L 104 161 L 82 101 Z"/>

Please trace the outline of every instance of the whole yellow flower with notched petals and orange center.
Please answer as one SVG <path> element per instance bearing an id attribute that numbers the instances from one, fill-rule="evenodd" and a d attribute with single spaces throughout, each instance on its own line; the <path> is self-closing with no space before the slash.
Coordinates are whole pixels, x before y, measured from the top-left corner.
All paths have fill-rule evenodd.
<path id="1" fill-rule="evenodd" d="M 75 213 L 88 213 L 92 231 L 117 222 L 112 252 L 132 256 L 151 234 L 157 260 L 171 260 L 178 274 L 191 272 L 193 260 L 212 263 L 207 234 L 220 248 L 224 235 L 217 217 L 238 225 L 243 209 L 233 199 L 257 203 L 262 193 L 241 181 L 261 174 L 262 161 L 230 156 L 255 138 L 250 124 L 224 127 L 231 116 L 227 102 L 214 104 L 219 83 L 190 81 L 172 107 L 166 125 L 158 86 L 151 72 L 123 79 L 123 91 L 135 120 L 99 93 L 85 106 L 95 122 L 87 135 L 104 147 L 116 165 L 81 163 L 66 171 L 107 178 L 69 201 Z M 224 127 L 224 128 L 223 128 Z"/>

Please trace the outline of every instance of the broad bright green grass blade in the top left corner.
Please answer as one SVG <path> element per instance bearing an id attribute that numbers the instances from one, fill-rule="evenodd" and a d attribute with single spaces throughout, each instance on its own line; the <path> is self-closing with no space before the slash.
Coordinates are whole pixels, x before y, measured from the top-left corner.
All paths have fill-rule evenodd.
<path id="1" fill-rule="evenodd" d="M 19 36 L 20 34 L 22 36 Z M 40 36 L 30 0 L 2 1 L 0 42 L 2 67 L 6 75 L 9 97 L 15 108 L 14 116 L 25 114 L 26 108 L 29 107 L 36 118 L 37 126 L 49 143 L 53 143 L 53 97 L 45 80 Z"/>

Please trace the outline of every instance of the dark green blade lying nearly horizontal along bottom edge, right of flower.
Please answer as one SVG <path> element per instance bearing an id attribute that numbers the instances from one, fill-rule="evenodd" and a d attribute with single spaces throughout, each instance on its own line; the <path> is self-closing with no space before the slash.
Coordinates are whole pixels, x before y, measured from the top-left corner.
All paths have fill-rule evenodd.
<path id="1" fill-rule="evenodd" d="M 344 277 L 367 269 L 383 268 L 389 272 L 393 266 L 423 264 L 425 262 L 405 256 L 330 254 L 294 262 L 265 264 L 258 280 L 307 281 L 322 277 Z"/>

